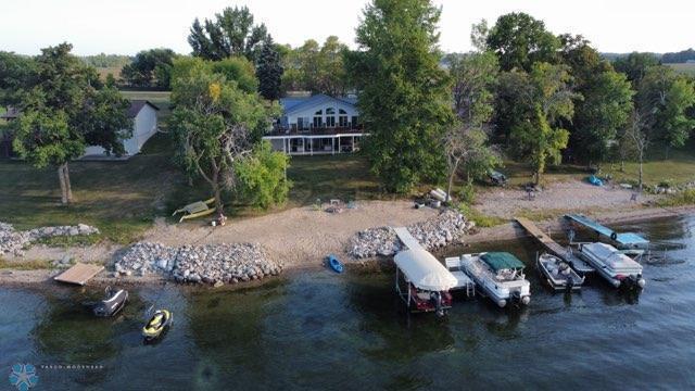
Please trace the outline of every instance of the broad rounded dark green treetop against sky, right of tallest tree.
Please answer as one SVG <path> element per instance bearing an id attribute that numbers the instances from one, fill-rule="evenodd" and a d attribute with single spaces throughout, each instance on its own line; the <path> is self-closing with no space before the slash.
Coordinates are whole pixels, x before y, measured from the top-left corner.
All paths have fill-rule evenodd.
<path id="1" fill-rule="evenodd" d="M 500 58 L 503 71 L 530 72 L 536 62 L 555 63 L 559 48 L 559 40 L 545 29 L 543 21 L 522 12 L 500 16 L 488 31 L 486 43 Z"/>

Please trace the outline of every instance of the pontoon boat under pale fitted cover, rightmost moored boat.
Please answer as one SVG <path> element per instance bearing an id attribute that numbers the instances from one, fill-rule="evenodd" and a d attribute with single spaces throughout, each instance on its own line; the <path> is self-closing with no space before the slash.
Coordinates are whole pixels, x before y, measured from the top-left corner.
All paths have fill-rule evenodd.
<path id="1" fill-rule="evenodd" d="M 642 278 L 642 265 L 610 244 L 582 243 L 579 254 L 616 288 L 624 282 L 635 283 L 640 288 L 646 283 Z"/>

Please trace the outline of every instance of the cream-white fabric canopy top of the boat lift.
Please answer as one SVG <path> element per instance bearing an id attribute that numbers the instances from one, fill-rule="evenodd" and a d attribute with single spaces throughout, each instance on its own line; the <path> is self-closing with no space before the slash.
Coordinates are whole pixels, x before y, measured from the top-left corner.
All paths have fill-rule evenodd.
<path id="1" fill-rule="evenodd" d="M 458 283 L 456 277 L 434 255 L 424 249 L 401 251 L 393 257 L 393 261 L 416 288 L 428 291 L 446 291 Z"/>

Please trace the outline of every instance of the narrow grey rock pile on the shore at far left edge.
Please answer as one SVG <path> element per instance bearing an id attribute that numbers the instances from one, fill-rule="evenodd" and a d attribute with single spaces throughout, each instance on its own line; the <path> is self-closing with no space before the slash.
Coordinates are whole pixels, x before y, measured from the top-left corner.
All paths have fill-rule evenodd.
<path id="1" fill-rule="evenodd" d="M 99 229 L 86 224 L 78 224 L 76 226 L 40 227 L 29 230 L 16 230 L 10 224 L 0 223 L 0 255 L 13 254 L 16 256 L 22 256 L 24 255 L 24 250 L 26 250 L 33 242 L 39 239 L 59 236 L 88 236 L 96 234 L 99 234 Z"/>

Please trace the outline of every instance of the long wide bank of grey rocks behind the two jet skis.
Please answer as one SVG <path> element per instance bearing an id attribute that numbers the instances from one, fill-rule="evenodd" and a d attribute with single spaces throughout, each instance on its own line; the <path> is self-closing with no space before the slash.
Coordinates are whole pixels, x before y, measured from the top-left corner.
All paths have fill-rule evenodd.
<path id="1" fill-rule="evenodd" d="M 140 242 L 114 264 L 117 275 L 163 274 L 177 282 L 237 283 L 277 276 L 279 262 L 270 260 L 260 244 L 205 244 L 167 247 Z"/>

